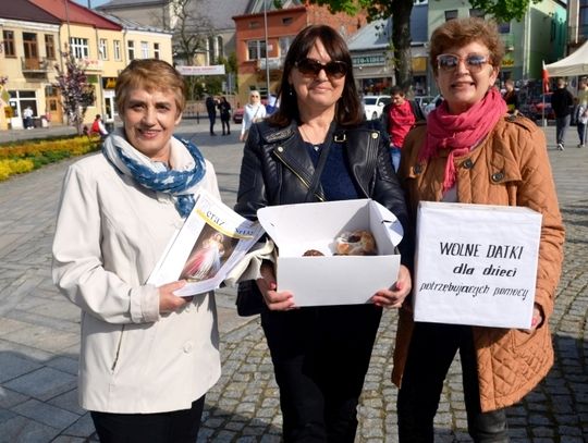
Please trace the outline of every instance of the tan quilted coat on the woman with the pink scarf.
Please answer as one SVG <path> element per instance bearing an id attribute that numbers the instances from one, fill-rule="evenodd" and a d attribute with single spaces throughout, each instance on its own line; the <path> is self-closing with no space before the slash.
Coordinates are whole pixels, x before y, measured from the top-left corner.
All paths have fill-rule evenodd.
<path id="1" fill-rule="evenodd" d="M 441 152 L 428 163 L 419 163 L 418 150 L 425 132 L 422 124 L 408 134 L 399 170 L 413 221 L 419 200 L 441 200 L 448 157 L 448 152 Z M 536 303 L 549 319 L 560 280 L 564 227 L 543 132 L 525 118 L 514 121 L 504 118 L 477 149 L 455 158 L 455 167 L 458 201 L 526 206 L 542 213 Z M 392 381 L 399 386 L 413 330 L 411 303 L 405 305 L 400 316 L 392 372 Z M 473 331 L 483 411 L 518 402 L 546 377 L 553 364 L 547 320 L 534 333 L 479 327 Z"/>

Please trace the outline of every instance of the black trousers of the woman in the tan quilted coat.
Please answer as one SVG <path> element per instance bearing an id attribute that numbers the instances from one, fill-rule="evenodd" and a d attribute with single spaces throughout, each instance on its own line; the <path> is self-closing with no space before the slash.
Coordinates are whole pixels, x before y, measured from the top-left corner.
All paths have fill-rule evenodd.
<path id="1" fill-rule="evenodd" d="M 415 323 L 399 392 L 399 441 L 432 443 L 443 381 L 460 350 L 467 429 L 475 442 L 509 442 L 504 409 L 481 413 L 471 327 Z"/>

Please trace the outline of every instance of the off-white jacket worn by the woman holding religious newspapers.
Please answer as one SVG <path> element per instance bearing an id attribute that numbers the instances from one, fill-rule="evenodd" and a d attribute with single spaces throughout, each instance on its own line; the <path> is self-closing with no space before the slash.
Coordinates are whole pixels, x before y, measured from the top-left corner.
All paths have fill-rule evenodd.
<path id="1" fill-rule="evenodd" d="M 213 167 L 201 186 L 220 198 Z M 159 315 L 146 285 L 175 230 L 172 199 L 137 187 L 100 153 L 70 167 L 53 241 L 53 281 L 82 308 L 79 403 L 89 410 L 186 409 L 220 377 L 213 294 Z"/>

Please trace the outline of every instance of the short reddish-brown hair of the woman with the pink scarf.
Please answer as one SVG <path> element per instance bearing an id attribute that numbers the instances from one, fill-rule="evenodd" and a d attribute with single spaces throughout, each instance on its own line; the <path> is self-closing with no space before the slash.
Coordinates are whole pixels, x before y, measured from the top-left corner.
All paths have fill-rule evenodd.
<path id="1" fill-rule="evenodd" d="M 438 56 L 450 48 L 460 48 L 474 41 L 485 45 L 490 51 L 490 64 L 500 67 L 504 57 L 504 44 L 500 38 L 497 24 L 478 17 L 453 19 L 443 23 L 431 35 L 429 62 L 434 75 L 438 74 Z"/>

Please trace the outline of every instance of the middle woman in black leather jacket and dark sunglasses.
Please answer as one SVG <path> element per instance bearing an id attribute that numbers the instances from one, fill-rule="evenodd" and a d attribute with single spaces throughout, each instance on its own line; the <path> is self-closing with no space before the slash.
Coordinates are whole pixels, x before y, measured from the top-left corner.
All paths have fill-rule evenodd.
<path id="1" fill-rule="evenodd" d="M 235 210 L 254 220 L 266 206 L 369 197 L 404 226 L 405 263 L 412 236 L 388 139 L 377 122 L 363 121 L 351 56 L 334 29 L 311 25 L 298 34 L 284 61 L 279 97 L 279 111 L 249 131 Z M 327 161 L 309 195 L 322 149 Z M 401 266 L 394 287 L 380 290 L 367 305 L 296 308 L 295 294 L 277 292 L 272 263 L 264 262 L 259 275 L 284 442 L 353 443 L 381 308 L 402 305 L 411 290 L 407 267 Z"/>

